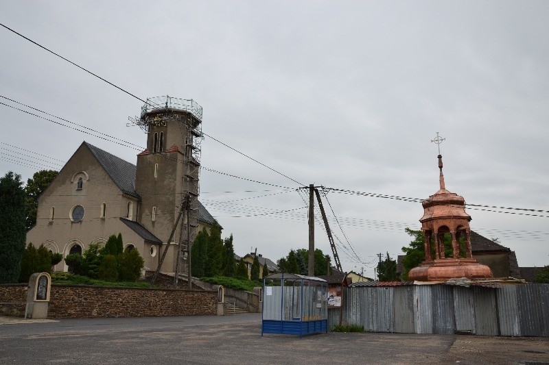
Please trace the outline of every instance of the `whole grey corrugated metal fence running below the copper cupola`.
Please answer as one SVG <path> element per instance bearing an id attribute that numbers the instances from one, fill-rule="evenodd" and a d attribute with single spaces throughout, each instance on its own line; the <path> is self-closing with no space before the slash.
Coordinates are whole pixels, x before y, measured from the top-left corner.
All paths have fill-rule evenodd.
<path id="1" fill-rule="evenodd" d="M 341 318 L 371 332 L 549 336 L 549 284 L 363 286 L 342 294 L 330 329 Z"/>

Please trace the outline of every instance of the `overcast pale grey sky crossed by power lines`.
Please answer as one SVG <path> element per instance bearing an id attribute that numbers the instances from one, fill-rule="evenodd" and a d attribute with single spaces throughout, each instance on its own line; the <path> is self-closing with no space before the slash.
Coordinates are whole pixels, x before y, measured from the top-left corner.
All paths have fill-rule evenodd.
<path id="1" fill-rule="evenodd" d="M 194 99 L 203 131 L 300 184 L 425 199 L 439 189 L 430 142 L 439 131 L 448 190 L 471 204 L 544 211 L 548 16 L 547 1 L 0 2 L 0 23 L 141 99 Z M 0 46 L 0 95 L 145 146 L 143 131 L 126 127 L 141 101 L 3 27 Z M 134 164 L 139 153 L 0 112 L 1 175 L 59 169 L 83 140 Z M 202 166 L 300 185 L 210 138 Z M 238 255 L 257 247 L 276 261 L 307 247 L 297 192 L 204 170 L 200 189 Z M 420 203 L 327 197 L 349 241 L 332 218 L 347 271 L 373 277 L 376 254 L 395 257 L 410 241 L 404 227 L 421 227 Z M 244 198 L 253 199 L 235 201 Z M 283 210 L 292 211 L 242 217 Z M 500 238 L 519 266 L 549 264 L 549 213 L 467 212 L 471 229 Z M 331 252 L 318 223 L 316 247 Z"/>

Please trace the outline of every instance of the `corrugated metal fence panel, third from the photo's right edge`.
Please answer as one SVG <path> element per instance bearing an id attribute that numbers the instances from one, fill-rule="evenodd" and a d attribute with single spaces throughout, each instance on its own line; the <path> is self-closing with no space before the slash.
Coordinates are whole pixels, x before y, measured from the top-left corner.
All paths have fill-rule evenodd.
<path id="1" fill-rule="evenodd" d="M 495 302 L 495 289 L 473 287 L 475 303 L 476 334 L 498 336 L 498 311 Z"/>

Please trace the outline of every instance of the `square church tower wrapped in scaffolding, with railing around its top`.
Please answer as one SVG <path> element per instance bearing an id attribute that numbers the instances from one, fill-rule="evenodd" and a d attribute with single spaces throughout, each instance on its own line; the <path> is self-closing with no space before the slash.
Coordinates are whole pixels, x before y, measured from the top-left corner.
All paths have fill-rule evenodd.
<path id="1" fill-rule="evenodd" d="M 202 107 L 192 99 L 153 97 L 131 120 L 147 133 L 147 148 L 137 155 L 138 222 L 163 241 L 159 262 L 169 245 L 161 270 L 187 273 L 189 242 L 198 227 Z M 167 242 L 176 222 L 172 242 Z"/>

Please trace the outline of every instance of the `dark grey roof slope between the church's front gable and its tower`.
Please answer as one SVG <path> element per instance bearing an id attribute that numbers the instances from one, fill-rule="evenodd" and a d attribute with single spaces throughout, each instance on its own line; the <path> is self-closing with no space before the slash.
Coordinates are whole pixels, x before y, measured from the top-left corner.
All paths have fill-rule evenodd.
<path id="1" fill-rule="evenodd" d="M 88 142 L 84 141 L 84 144 L 86 144 L 86 147 L 89 148 L 108 176 L 113 179 L 116 186 L 122 192 L 141 199 L 141 196 L 135 191 L 135 172 L 137 171 L 135 164 L 122 160 L 112 153 L 108 153 Z"/>

